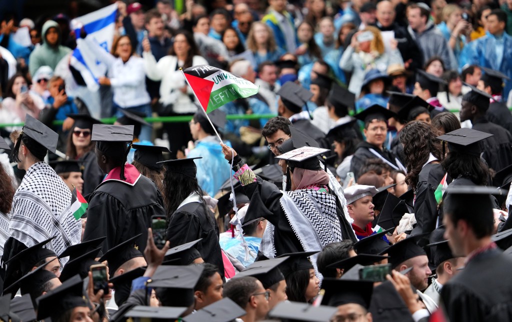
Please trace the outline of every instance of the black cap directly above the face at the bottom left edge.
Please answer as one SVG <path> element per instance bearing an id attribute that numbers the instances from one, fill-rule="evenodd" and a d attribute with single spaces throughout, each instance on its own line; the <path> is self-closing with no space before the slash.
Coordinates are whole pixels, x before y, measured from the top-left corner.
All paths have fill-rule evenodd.
<path id="1" fill-rule="evenodd" d="M 76 307 L 89 307 L 83 296 L 83 281 L 80 276 L 69 278 L 61 286 L 37 298 L 37 320 L 50 317 L 57 321 L 67 311 Z"/>

